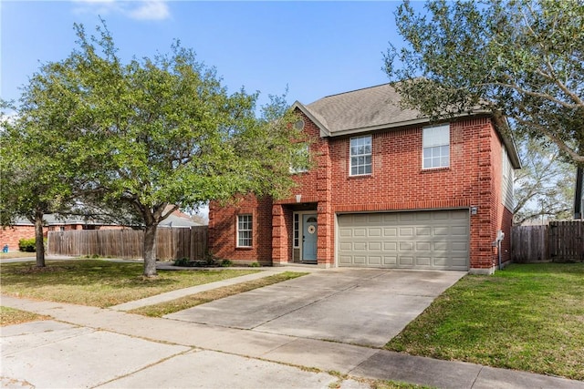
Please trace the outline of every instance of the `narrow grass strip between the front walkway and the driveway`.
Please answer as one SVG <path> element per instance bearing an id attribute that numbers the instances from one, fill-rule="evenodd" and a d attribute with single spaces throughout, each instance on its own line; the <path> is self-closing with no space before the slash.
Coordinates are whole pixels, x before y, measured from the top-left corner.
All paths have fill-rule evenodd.
<path id="1" fill-rule="evenodd" d="M 131 313 L 138 313 L 145 316 L 162 317 L 165 314 L 183 311 L 194 306 L 233 296 L 237 293 L 252 291 L 277 282 L 284 282 L 308 274 L 307 272 L 284 271 L 279 274 L 270 275 L 259 280 L 241 282 L 235 285 L 224 286 L 211 291 L 184 296 L 183 298 L 172 300 L 172 302 L 161 302 L 159 304 L 131 310 Z"/>

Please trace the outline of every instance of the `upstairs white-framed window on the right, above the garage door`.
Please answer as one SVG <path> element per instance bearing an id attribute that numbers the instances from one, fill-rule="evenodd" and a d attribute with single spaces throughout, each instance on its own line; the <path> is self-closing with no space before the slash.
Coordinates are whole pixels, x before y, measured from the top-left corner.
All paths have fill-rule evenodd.
<path id="1" fill-rule="evenodd" d="M 425 127 L 422 131 L 422 168 L 450 167 L 450 124 Z"/>

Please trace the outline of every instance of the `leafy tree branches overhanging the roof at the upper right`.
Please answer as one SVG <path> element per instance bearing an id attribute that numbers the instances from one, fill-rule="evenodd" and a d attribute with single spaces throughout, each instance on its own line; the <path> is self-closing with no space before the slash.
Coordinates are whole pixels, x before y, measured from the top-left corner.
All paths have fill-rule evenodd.
<path id="1" fill-rule="evenodd" d="M 409 46 L 385 57 L 402 104 L 431 118 L 499 111 L 584 164 L 584 2 L 433 0 L 424 8 L 399 6 Z"/>

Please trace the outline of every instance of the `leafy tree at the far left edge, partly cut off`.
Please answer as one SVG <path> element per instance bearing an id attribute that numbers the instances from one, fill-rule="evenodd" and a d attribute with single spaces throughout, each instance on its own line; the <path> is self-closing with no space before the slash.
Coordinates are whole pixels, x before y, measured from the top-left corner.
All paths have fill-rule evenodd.
<path id="1" fill-rule="evenodd" d="M 68 124 L 77 98 L 63 96 L 63 75 L 51 65 L 41 67 L 23 88 L 18 107 L 2 102 L 0 121 L 0 222 L 10 226 L 18 218 L 35 225 L 36 266 L 45 266 L 44 216 L 66 214 L 75 208 L 83 185 L 78 155 L 69 153 Z M 73 157 L 73 158 L 72 158 Z"/>

